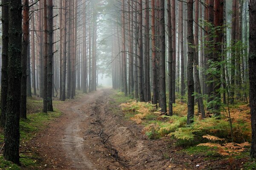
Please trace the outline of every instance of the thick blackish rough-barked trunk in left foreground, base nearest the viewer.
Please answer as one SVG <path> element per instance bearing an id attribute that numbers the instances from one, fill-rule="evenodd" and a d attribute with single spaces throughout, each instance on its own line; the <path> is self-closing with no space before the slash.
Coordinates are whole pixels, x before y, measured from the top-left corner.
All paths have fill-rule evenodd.
<path id="1" fill-rule="evenodd" d="M 8 91 L 3 157 L 20 164 L 21 0 L 9 0 Z"/>

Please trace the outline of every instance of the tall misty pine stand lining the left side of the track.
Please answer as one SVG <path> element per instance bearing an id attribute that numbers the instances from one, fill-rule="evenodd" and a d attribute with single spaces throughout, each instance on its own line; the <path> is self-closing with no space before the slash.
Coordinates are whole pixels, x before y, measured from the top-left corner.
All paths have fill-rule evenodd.
<path id="1" fill-rule="evenodd" d="M 28 96 L 74 99 L 76 90 L 96 91 L 96 2 L 88 0 L 2 0 L 0 126 L 3 156 L 19 164 L 19 121 Z"/>

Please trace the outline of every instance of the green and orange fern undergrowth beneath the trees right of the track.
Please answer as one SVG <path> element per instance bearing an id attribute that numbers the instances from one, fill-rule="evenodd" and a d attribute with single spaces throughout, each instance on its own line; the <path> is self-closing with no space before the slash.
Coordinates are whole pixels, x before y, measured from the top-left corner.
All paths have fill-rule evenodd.
<path id="1" fill-rule="evenodd" d="M 116 97 L 124 99 L 122 94 Z M 145 126 L 143 132 L 149 139 L 175 139 L 175 145 L 183 147 L 181 152 L 209 157 L 227 156 L 227 159 L 249 155 L 251 128 L 250 108 L 247 104 L 239 103 L 230 107 L 234 142 L 231 141 L 230 125 L 225 112 L 219 118 L 207 114 L 206 119 L 201 119 L 195 106 L 194 122 L 186 125 L 187 105 L 180 100 L 173 105 L 174 116 L 161 115 L 155 105 L 134 99 L 127 99 L 120 106 L 127 118 Z M 255 167 L 255 164 L 249 161 L 245 167 Z"/>

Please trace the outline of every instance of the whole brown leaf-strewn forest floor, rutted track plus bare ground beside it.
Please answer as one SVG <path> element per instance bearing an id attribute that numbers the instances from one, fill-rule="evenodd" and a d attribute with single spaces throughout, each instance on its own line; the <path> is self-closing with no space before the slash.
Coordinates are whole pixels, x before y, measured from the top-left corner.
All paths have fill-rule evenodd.
<path id="1" fill-rule="evenodd" d="M 115 94 L 100 89 L 67 102 L 56 101 L 56 110 L 62 115 L 21 144 L 22 153 L 29 153 L 35 163 L 32 167 L 23 164 L 22 169 L 242 170 L 248 162 L 248 156 L 230 160 L 207 155 L 204 147 L 183 150 L 170 137 L 148 139 L 144 125 L 127 119 L 120 107 L 129 98 Z"/>

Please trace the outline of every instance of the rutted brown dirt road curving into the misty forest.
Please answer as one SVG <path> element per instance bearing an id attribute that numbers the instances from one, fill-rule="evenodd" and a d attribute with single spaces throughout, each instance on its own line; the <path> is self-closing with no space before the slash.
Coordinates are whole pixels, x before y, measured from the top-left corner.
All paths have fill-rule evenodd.
<path id="1" fill-rule="evenodd" d="M 175 154 L 169 141 L 148 140 L 143 127 L 112 113 L 110 89 L 87 94 L 58 106 L 63 116 L 35 139 L 44 158 L 42 169 L 52 170 L 189 170 L 189 156 Z M 168 152 L 170 157 L 165 155 Z"/>

